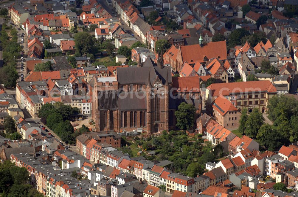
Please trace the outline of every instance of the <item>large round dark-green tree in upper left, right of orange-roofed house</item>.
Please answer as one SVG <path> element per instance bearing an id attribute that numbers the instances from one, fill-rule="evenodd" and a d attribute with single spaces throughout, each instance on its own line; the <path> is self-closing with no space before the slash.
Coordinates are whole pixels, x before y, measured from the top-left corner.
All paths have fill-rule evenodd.
<path id="1" fill-rule="evenodd" d="M 89 33 L 78 32 L 75 34 L 75 47 L 81 55 L 92 53 L 93 45 L 94 40 Z"/>

